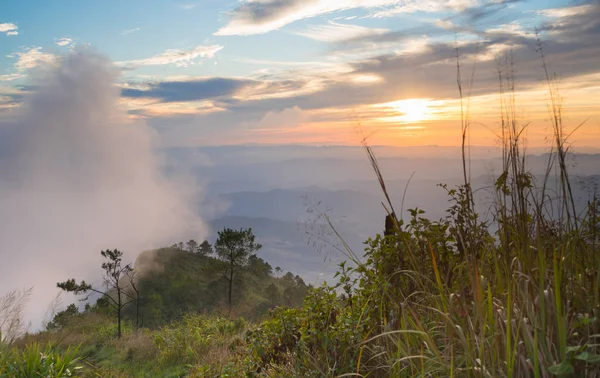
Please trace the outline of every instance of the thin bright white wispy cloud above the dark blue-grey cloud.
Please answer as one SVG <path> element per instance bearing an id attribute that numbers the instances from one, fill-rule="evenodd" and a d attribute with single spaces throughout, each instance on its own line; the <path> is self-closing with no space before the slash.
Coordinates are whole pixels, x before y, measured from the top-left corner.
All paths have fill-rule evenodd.
<path id="1" fill-rule="evenodd" d="M 196 63 L 200 59 L 214 58 L 217 52 L 221 51 L 222 49 L 223 46 L 220 45 L 200 45 L 189 50 L 170 49 L 150 58 L 122 61 L 117 62 L 116 64 L 126 68 L 162 66 L 166 64 L 174 64 L 178 67 L 187 67 Z"/>

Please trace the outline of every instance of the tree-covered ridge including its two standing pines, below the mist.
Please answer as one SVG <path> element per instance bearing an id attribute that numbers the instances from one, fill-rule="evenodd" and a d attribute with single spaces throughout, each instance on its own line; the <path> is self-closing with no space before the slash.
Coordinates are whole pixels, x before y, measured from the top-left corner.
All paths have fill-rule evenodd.
<path id="1" fill-rule="evenodd" d="M 252 314 L 257 316 L 275 306 L 294 306 L 301 303 L 309 286 L 298 275 L 294 276 L 291 272 L 282 275 L 280 267 L 273 269 L 268 262 L 256 255 L 261 248 L 262 245 L 257 242 L 251 228 L 224 228 L 217 232 L 214 245 L 207 240 L 198 243 L 193 239 L 173 244 L 171 250 L 198 256 L 200 260 L 196 261 L 196 258 L 190 255 L 179 255 L 178 260 L 167 257 L 162 263 L 166 264 L 164 266 L 170 266 L 170 270 L 157 275 L 142 274 L 132 263 L 123 262 L 123 253 L 120 250 L 107 249 L 100 252 L 103 257 L 101 284 L 93 285 L 85 280 L 69 278 L 58 282 L 57 287 L 65 292 L 81 295 L 81 301 L 99 296 L 95 305 L 86 304 L 86 311 L 110 314 L 116 323 L 118 338 L 123 335 L 125 318 L 134 319 L 135 328 L 139 329 L 144 315 L 149 315 L 148 319 L 144 319 L 143 326 L 152 327 L 176 319 L 190 310 L 202 312 L 204 309 L 218 309 L 220 303 L 226 304 L 231 315 L 234 304 L 249 293 L 258 294 L 262 298 L 260 302 L 250 305 Z M 169 255 L 156 255 L 153 259 L 161 259 L 159 256 Z M 157 261 L 161 264 L 161 260 Z M 170 265 L 172 262 L 176 265 Z M 183 265 L 180 265 L 181 262 Z M 201 264 L 200 267 L 198 264 Z M 174 276 L 175 271 L 183 272 L 183 276 Z M 209 278 L 195 281 L 194 276 Z M 173 284 L 173 280 L 179 280 L 184 286 Z M 189 286 L 191 282 L 202 285 L 200 287 L 204 287 L 204 292 L 194 294 L 190 291 L 193 287 Z M 173 291 L 172 285 L 179 289 Z M 221 295 L 210 294 L 211 292 Z M 77 305 L 71 304 L 65 310 L 53 314 L 52 320 L 46 324 L 46 329 L 61 329 L 82 313 Z"/>

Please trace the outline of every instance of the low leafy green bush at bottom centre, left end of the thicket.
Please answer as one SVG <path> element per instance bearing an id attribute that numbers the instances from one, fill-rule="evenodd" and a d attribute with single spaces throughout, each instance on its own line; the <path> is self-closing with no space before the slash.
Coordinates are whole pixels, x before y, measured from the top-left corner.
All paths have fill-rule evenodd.
<path id="1" fill-rule="evenodd" d="M 361 311 L 345 306 L 334 288 L 309 292 L 302 308 L 278 307 L 247 334 L 258 372 L 293 364 L 298 376 L 335 376 L 355 367 Z"/>

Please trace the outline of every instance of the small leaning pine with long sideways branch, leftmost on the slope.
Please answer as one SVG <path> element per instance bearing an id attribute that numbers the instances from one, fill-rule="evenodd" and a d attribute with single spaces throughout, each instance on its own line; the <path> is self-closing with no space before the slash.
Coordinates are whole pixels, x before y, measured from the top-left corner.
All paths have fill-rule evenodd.
<path id="1" fill-rule="evenodd" d="M 76 295 L 86 294 L 86 293 L 97 293 L 102 295 L 102 298 L 105 298 L 108 303 L 115 309 L 117 315 L 117 337 L 121 338 L 121 321 L 123 308 L 135 301 L 135 299 L 127 300 L 127 289 L 131 287 L 131 277 L 130 274 L 133 271 L 131 265 L 121 266 L 123 252 L 114 249 L 106 251 L 101 251 L 100 254 L 102 257 L 106 259 L 104 263 L 102 263 L 103 279 L 104 279 L 104 291 L 98 290 L 92 287 L 92 285 L 86 283 L 85 281 L 81 281 L 81 283 L 77 283 L 74 278 L 71 278 L 64 282 L 58 282 L 56 286 L 60 289 L 74 293 Z M 123 278 L 128 278 L 123 282 Z M 83 300 L 87 300 L 89 295 L 85 297 Z"/>

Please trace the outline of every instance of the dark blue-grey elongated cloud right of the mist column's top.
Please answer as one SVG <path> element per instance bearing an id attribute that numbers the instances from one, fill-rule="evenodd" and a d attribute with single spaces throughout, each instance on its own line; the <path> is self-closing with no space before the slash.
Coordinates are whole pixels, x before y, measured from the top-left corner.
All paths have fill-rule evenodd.
<path id="1" fill-rule="evenodd" d="M 165 102 L 197 101 L 221 96 L 232 96 L 251 80 L 233 78 L 208 78 L 189 81 L 163 81 L 149 84 L 144 89 L 124 88 L 122 96 L 155 98 Z"/>

